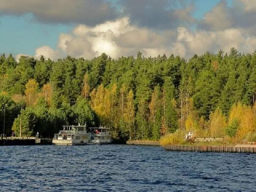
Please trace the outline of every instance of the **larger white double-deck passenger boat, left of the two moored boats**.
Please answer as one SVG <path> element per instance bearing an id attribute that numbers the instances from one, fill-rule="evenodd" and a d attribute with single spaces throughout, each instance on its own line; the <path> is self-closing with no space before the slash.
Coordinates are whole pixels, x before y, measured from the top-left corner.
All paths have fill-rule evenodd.
<path id="1" fill-rule="evenodd" d="M 52 143 L 55 145 L 84 145 L 89 142 L 90 133 L 86 132 L 86 125 L 62 126 L 63 130 L 54 134 Z"/>

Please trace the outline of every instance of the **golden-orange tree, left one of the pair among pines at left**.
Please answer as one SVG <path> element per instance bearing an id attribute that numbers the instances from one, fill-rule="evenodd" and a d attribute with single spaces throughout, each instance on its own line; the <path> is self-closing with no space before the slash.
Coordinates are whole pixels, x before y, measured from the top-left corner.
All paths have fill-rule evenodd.
<path id="1" fill-rule="evenodd" d="M 26 84 L 25 95 L 27 99 L 27 105 L 33 105 L 36 99 L 36 93 L 38 91 L 38 83 L 34 79 L 30 79 Z"/>

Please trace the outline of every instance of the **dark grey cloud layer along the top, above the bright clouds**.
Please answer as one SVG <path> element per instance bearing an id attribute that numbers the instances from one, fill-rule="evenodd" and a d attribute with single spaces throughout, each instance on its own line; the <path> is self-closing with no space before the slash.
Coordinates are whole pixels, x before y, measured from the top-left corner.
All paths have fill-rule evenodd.
<path id="1" fill-rule="evenodd" d="M 41 22 L 82 23 L 95 26 L 129 16 L 133 24 L 175 28 L 195 22 L 193 5 L 173 0 L 2 0 L 0 14 L 32 13 Z"/>

